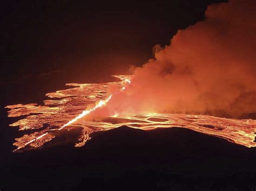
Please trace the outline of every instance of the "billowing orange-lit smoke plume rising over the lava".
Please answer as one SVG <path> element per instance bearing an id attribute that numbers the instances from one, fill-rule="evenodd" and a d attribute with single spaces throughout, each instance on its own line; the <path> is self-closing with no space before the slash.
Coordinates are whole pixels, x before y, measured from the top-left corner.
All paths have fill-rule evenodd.
<path id="1" fill-rule="evenodd" d="M 208 6 L 206 19 L 179 30 L 109 106 L 122 112 L 240 117 L 256 112 L 256 1 Z M 110 90 L 111 91 L 111 90 Z"/>

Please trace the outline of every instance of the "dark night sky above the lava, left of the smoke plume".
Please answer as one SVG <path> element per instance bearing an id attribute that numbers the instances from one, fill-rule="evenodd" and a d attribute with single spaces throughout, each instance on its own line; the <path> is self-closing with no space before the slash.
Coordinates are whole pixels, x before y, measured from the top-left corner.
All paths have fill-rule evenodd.
<path id="1" fill-rule="evenodd" d="M 60 83 L 100 81 L 152 58 L 178 29 L 221 1 L 5 1 L 1 79 L 58 71 Z"/>

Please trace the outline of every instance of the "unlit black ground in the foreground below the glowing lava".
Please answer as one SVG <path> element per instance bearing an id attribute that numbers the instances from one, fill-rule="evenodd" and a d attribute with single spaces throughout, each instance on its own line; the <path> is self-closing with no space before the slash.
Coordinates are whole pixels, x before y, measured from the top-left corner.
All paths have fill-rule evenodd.
<path id="1" fill-rule="evenodd" d="M 9 153 L 1 190 L 255 190 L 256 149 L 188 129 L 99 132 Z M 72 137 L 74 139 L 72 139 Z"/>

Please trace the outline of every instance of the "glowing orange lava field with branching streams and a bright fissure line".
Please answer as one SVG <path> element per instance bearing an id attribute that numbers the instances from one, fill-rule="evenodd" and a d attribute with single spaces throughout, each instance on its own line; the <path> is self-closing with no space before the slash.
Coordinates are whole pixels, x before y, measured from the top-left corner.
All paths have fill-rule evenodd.
<path id="1" fill-rule="evenodd" d="M 254 142 L 256 121 L 252 119 L 144 113 L 133 115 L 114 114 L 100 121 L 86 120 L 86 118 L 82 120 L 84 116 L 109 102 L 112 95 L 107 93 L 107 89 L 110 86 L 117 86 L 119 91 L 125 91 L 126 86 L 131 83 L 131 76 L 120 75 L 114 77 L 118 77 L 120 81 L 100 84 L 66 84 L 75 88 L 46 94 L 46 96 L 58 98 L 58 100 L 45 100 L 44 105 L 32 103 L 6 106 L 6 108 L 11 109 L 8 111 L 9 117 L 26 116 L 10 126 L 19 126 L 19 130 L 33 130 L 30 134 L 15 139 L 16 150 L 26 146 L 42 146 L 56 137 L 55 131 L 78 127 L 83 128 L 83 130 L 75 146 L 83 146 L 90 139 L 89 136 L 92 132 L 110 130 L 122 125 L 142 130 L 172 127 L 187 128 L 224 138 L 235 144 L 247 147 L 256 146 Z"/>

